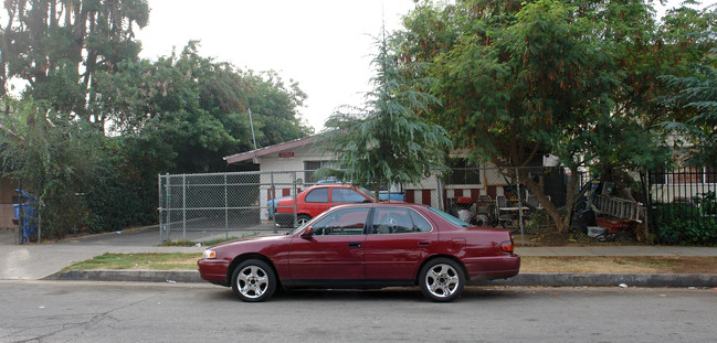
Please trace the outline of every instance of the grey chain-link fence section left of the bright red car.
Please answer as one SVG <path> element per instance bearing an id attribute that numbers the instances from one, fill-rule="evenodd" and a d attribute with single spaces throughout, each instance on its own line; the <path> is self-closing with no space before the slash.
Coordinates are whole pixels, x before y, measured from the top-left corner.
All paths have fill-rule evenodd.
<path id="1" fill-rule="evenodd" d="M 225 233 L 275 229 L 280 199 L 312 183 L 314 171 L 234 172 L 159 175 L 160 240 L 188 232 Z M 295 212 L 295 211 L 293 211 Z"/>

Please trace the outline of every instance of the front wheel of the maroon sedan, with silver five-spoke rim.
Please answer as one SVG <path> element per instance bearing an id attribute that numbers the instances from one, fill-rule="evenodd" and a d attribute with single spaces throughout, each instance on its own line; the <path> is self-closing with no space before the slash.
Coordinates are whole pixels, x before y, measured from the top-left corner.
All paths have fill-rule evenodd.
<path id="1" fill-rule="evenodd" d="M 278 279 L 272 266 L 261 259 L 247 259 L 232 272 L 232 290 L 247 302 L 265 301 L 274 294 Z"/>

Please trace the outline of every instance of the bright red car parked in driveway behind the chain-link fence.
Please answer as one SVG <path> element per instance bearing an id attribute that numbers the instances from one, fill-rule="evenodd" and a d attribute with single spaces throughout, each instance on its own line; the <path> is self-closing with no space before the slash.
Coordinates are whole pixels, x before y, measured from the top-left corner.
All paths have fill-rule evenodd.
<path id="1" fill-rule="evenodd" d="M 372 202 L 371 196 L 350 184 L 317 184 L 296 196 L 297 226 L 336 205 Z M 281 226 L 294 224 L 294 197 L 276 202 L 274 222 Z"/>

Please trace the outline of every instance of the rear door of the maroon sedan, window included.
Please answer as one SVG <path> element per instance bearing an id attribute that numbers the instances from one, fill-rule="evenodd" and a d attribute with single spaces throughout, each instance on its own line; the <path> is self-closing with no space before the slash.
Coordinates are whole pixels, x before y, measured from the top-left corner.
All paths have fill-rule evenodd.
<path id="1" fill-rule="evenodd" d="M 437 245 L 437 231 L 410 208 L 376 207 L 368 231 L 363 254 L 369 281 L 413 279 Z"/>

